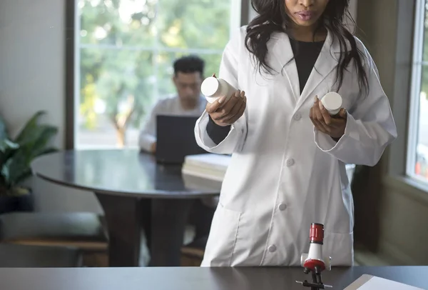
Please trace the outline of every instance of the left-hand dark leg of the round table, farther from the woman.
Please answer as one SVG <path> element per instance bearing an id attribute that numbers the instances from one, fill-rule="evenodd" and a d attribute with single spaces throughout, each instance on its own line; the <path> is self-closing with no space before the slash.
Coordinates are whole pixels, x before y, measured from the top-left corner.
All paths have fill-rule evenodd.
<path id="1" fill-rule="evenodd" d="M 108 261 L 113 267 L 139 266 L 140 213 L 138 199 L 96 193 L 108 229 Z"/>

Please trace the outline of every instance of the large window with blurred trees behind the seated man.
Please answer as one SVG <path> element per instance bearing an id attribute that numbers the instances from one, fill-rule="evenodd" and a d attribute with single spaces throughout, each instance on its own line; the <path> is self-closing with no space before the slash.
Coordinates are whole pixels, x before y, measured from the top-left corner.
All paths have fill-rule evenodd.
<path id="1" fill-rule="evenodd" d="M 218 71 L 240 15 L 236 0 L 76 0 L 74 147 L 138 146 L 151 106 L 175 93 L 173 60 Z"/>

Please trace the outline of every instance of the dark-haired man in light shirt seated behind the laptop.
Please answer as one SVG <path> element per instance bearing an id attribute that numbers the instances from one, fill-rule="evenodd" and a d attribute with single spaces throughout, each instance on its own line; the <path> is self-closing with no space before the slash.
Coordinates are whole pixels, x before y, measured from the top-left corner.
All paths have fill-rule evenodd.
<path id="1" fill-rule="evenodd" d="M 173 82 L 177 95 L 158 101 L 141 130 L 139 146 L 143 151 L 156 152 L 156 116 L 200 116 L 206 100 L 200 94 L 205 63 L 198 56 L 183 56 L 174 61 Z"/>

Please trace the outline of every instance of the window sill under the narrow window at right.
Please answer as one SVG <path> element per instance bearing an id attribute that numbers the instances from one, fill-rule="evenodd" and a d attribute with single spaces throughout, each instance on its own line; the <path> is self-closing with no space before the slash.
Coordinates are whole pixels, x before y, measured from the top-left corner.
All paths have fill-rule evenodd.
<path id="1" fill-rule="evenodd" d="M 417 201 L 428 204 L 428 184 L 407 176 L 385 176 L 382 184 L 387 188 L 398 189 L 396 192 Z"/>

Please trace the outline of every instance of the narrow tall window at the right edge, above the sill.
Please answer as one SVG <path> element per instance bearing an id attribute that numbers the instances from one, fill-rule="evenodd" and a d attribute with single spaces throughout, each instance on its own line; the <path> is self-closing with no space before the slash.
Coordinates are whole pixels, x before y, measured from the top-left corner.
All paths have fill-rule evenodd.
<path id="1" fill-rule="evenodd" d="M 414 23 L 412 93 L 407 175 L 428 183 L 428 1 L 417 0 Z"/>

